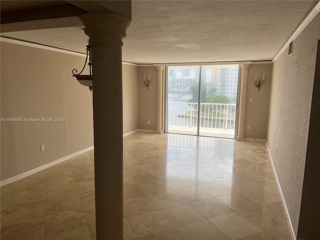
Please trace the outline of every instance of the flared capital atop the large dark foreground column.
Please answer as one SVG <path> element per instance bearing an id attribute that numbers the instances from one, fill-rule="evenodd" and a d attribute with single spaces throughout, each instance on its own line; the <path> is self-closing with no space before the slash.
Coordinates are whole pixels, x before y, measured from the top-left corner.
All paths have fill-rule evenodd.
<path id="1" fill-rule="evenodd" d="M 121 48 L 122 38 L 130 24 L 130 18 L 108 12 L 88 12 L 80 15 L 84 24 L 84 33 L 90 37 L 91 46 L 108 46 Z"/>

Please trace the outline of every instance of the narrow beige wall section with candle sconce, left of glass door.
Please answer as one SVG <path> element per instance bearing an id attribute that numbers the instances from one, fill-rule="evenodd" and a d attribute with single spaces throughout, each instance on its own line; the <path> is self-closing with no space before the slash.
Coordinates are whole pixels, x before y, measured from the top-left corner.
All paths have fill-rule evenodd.
<path id="1" fill-rule="evenodd" d="M 143 84 L 145 78 L 151 74 L 149 89 Z M 138 129 L 156 129 L 156 96 L 157 96 L 157 70 L 155 66 L 138 67 Z M 146 120 L 150 119 L 150 124 Z"/>

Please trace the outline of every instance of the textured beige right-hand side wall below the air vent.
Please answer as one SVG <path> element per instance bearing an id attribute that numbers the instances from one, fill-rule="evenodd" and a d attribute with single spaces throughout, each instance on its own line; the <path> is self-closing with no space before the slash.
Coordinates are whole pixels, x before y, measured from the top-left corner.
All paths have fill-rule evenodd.
<path id="1" fill-rule="evenodd" d="M 294 39 L 293 54 L 288 57 L 285 50 L 273 63 L 272 70 L 267 140 L 295 234 L 319 38 L 320 14 L 317 14 Z"/>

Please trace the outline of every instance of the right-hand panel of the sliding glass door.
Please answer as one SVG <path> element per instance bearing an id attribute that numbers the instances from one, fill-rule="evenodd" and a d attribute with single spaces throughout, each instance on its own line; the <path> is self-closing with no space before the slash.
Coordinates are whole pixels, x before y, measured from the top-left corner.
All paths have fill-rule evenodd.
<path id="1" fill-rule="evenodd" d="M 200 84 L 198 134 L 234 138 L 238 65 L 202 66 Z"/>

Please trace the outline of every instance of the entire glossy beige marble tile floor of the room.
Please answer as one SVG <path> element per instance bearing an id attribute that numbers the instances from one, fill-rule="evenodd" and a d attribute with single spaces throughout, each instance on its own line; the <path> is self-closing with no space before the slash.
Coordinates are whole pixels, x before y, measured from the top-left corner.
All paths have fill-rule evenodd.
<path id="1" fill-rule="evenodd" d="M 264 143 L 136 132 L 123 138 L 124 239 L 291 239 Z M 259 169 L 272 173 L 270 163 Z M 1 240 L 93 240 L 93 151 L 4 185 Z"/>

